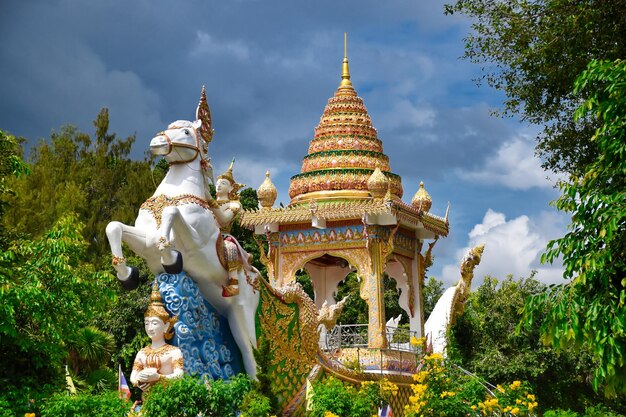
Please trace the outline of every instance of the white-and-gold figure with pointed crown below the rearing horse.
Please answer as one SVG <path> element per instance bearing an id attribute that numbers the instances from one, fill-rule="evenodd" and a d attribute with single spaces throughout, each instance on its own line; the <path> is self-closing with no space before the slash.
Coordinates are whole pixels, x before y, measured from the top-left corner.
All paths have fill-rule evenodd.
<path id="1" fill-rule="evenodd" d="M 156 282 L 144 318 L 146 333 L 152 343 L 137 353 L 130 382 L 145 392 L 160 380 L 182 377 L 183 354 L 178 347 L 165 341 L 174 336 L 176 318 L 170 318 L 165 310 Z"/>

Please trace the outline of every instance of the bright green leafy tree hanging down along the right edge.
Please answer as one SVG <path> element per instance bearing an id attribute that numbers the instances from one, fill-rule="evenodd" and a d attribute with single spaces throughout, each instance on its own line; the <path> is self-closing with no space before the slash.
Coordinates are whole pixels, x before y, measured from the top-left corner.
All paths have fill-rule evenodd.
<path id="1" fill-rule="evenodd" d="M 529 326 L 541 322 L 543 341 L 560 349 L 590 349 L 593 384 L 626 393 L 626 61 L 592 61 L 575 93 L 588 99 L 576 118 L 593 119 L 599 155 L 584 175 L 561 182 L 556 207 L 571 213 L 569 232 L 551 241 L 544 260 L 563 260 L 567 283 L 534 296 Z M 547 311 L 547 314 L 544 312 Z"/>

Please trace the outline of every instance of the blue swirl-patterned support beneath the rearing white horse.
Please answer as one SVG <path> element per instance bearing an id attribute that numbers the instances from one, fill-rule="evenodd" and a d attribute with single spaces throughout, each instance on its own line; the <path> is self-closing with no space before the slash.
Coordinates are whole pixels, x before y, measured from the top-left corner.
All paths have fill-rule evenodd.
<path id="1" fill-rule="evenodd" d="M 184 271 L 161 274 L 157 282 L 165 308 L 178 316 L 170 343 L 183 352 L 185 373 L 213 380 L 241 372 L 241 353 L 228 321 L 202 297 L 191 277 Z"/>

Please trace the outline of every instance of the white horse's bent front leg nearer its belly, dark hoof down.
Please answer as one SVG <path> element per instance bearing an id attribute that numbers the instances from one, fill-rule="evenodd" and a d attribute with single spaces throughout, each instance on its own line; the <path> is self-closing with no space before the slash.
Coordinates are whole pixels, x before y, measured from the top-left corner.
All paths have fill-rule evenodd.
<path id="1" fill-rule="evenodd" d="M 202 242 L 198 232 L 191 227 L 177 207 L 166 207 L 161 215 L 161 228 L 158 249 L 161 252 L 161 265 L 165 272 L 178 274 L 183 270 L 184 253 L 199 250 Z M 175 246 L 172 245 L 174 241 Z M 178 249 L 178 250 L 177 250 Z"/>

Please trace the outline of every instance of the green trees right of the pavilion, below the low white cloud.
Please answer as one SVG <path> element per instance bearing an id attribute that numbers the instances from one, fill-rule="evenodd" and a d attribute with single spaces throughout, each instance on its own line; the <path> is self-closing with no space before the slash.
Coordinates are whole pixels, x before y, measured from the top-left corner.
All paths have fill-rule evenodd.
<path id="1" fill-rule="evenodd" d="M 516 331 L 526 300 L 544 289 L 532 277 L 508 277 L 501 282 L 486 277 L 470 294 L 464 314 L 452 327 L 451 356 L 493 384 L 528 381 L 544 410 L 563 404 L 583 410 L 588 403 L 601 400 L 589 383 L 591 354 L 543 346 L 539 320 Z"/>

